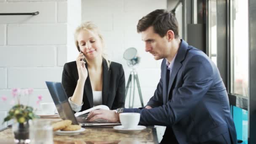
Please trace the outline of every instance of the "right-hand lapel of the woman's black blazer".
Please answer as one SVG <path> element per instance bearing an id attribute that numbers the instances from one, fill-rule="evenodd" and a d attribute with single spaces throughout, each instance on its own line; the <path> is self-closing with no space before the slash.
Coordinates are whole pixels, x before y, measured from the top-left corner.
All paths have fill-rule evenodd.
<path id="1" fill-rule="evenodd" d="M 109 78 L 111 75 L 111 70 L 108 70 L 107 67 L 107 61 L 103 59 L 103 83 L 102 83 L 102 104 L 109 105 L 107 104 L 107 95 L 108 95 L 108 89 L 109 89 Z M 111 108 L 111 107 L 109 107 Z"/>

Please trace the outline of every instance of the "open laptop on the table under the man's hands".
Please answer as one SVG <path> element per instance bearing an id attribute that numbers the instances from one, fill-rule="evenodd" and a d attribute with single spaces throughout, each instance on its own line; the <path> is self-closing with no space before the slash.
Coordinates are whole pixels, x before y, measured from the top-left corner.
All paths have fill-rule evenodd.
<path id="1" fill-rule="evenodd" d="M 120 123 L 109 123 L 107 120 L 95 120 L 93 122 L 89 122 L 86 120 L 86 117 L 75 117 L 74 111 L 72 110 L 67 94 L 59 82 L 45 82 L 48 90 L 51 94 L 53 102 L 59 112 L 61 119 L 63 120 L 71 120 L 74 125 L 81 126 L 114 126 L 120 125 Z"/>

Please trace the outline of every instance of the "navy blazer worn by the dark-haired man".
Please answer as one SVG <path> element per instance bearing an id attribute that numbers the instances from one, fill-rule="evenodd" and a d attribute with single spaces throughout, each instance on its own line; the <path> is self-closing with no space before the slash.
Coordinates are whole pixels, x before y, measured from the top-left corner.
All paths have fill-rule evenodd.
<path id="1" fill-rule="evenodd" d="M 225 85 L 218 68 L 205 53 L 181 40 L 169 81 L 168 77 L 163 59 L 160 82 L 147 103 L 153 108 L 124 112 L 139 112 L 140 125 L 172 129 L 180 144 L 236 144 Z"/>

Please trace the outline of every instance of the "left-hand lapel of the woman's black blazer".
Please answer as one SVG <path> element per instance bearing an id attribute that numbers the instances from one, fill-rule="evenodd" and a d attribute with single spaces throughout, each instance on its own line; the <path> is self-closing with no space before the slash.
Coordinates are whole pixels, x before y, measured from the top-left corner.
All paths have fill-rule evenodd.
<path id="1" fill-rule="evenodd" d="M 88 70 L 87 63 L 85 64 L 85 67 Z M 90 80 L 89 72 L 88 72 L 88 77 L 85 80 L 85 86 L 83 89 L 83 93 L 84 93 L 83 99 L 85 99 L 85 96 L 86 96 L 88 99 L 88 102 L 90 104 L 90 107 L 93 107 L 93 90 L 91 88 L 91 80 Z"/>

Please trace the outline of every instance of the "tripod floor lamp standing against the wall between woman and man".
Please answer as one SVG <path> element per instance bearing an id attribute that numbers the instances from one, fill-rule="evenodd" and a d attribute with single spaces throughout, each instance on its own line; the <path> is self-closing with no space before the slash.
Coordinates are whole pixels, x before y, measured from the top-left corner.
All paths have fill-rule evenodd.
<path id="1" fill-rule="evenodd" d="M 135 87 L 137 87 L 137 89 L 139 91 L 139 99 L 140 99 L 140 102 L 141 102 L 141 107 L 144 107 L 142 94 L 141 94 L 141 87 L 139 85 L 139 78 L 138 78 L 137 72 L 136 72 L 135 67 L 134 67 L 136 64 L 139 63 L 139 60 L 140 60 L 140 58 L 137 56 L 136 48 L 126 49 L 124 54 L 123 54 L 123 58 L 125 60 L 127 60 L 128 66 L 132 68 L 132 70 L 130 72 L 130 75 L 129 75 L 129 78 L 128 78 L 126 88 L 125 88 L 125 99 L 126 99 L 126 96 L 128 94 L 128 90 L 130 90 L 129 91 L 129 93 L 130 93 L 130 95 L 129 95 L 129 108 L 132 108 L 133 104 L 134 104 Z M 135 83 L 136 83 L 136 85 L 135 85 Z"/>

